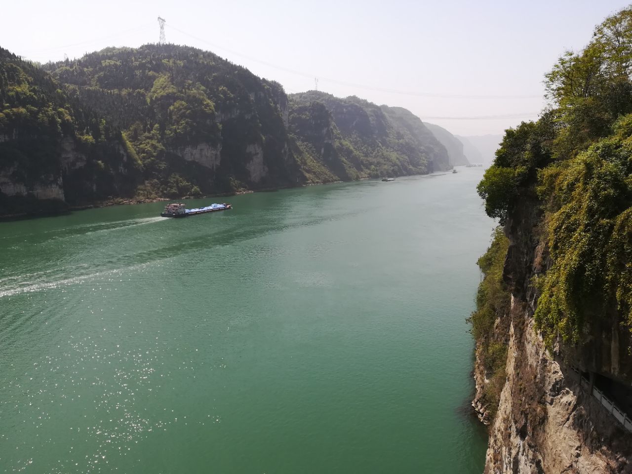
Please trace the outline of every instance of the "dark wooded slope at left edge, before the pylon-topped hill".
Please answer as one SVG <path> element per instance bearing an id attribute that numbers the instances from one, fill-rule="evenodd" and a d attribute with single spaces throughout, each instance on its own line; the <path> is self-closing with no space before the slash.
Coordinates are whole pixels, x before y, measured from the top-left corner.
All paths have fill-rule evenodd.
<path id="1" fill-rule="evenodd" d="M 139 174 L 140 162 L 119 128 L 65 94 L 45 71 L 0 49 L 3 209 L 126 195 Z"/>

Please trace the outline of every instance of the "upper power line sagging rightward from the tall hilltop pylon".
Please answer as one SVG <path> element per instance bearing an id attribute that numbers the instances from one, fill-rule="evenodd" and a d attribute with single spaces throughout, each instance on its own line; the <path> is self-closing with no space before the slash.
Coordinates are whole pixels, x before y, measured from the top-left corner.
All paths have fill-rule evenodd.
<path id="1" fill-rule="evenodd" d="M 401 95 L 411 95 L 411 96 L 415 96 L 415 97 L 435 97 L 435 98 L 440 98 L 440 99 L 542 99 L 542 95 L 474 95 L 474 94 L 470 94 L 470 95 L 466 95 L 466 94 L 435 94 L 432 92 L 411 92 L 411 91 L 407 91 L 407 90 L 397 90 L 397 89 L 389 89 L 389 88 L 383 88 L 383 87 L 374 87 L 374 86 L 370 86 L 370 85 L 363 85 L 363 84 L 357 84 L 357 83 L 351 83 L 351 82 L 344 82 L 344 81 L 340 81 L 340 80 L 336 80 L 336 79 L 332 79 L 332 78 L 326 78 L 326 77 L 322 77 L 320 75 L 315 75 L 313 73 L 306 73 L 303 71 L 296 71 L 296 70 L 292 70 L 289 68 L 286 68 L 284 66 L 279 66 L 277 64 L 272 64 L 272 63 L 268 63 L 267 61 L 262 61 L 261 59 L 257 59 L 257 58 L 253 58 L 252 56 L 248 56 L 246 54 L 242 54 L 241 52 L 238 51 L 233 51 L 231 49 L 225 48 L 223 46 L 219 46 L 217 44 L 214 44 L 212 42 L 209 42 L 205 39 L 196 37 L 194 35 L 191 35 L 191 33 L 187 33 L 183 30 L 180 30 L 179 28 L 174 27 L 173 25 L 169 25 L 169 28 L 171 28 L 172 30 L 175 30 L 183 35 L 186 35 L 192 39 L 195 39 L 197 41 L 203 42 L 205 44 L 208 44 L 209 46 L 216 48 L 216 49 L 221 49 L 222 51 L 226 51 L 229 52 L 231 54 L 234 54 L 235 56 L 240 56 L 241 58 L 245 58 L 245 59 L 249 59 L 250 61 L 255 61 L 255 63 L 260 63 L 260 64 L 264 64 L 264 66 L 268 66 L 270 68 L 274 68 L 277 69 L 279 71 L 286 71 L 288 73 L 292 73 L 292 74 L 296 74 L 298 76 L 303 76 L 306 78 L 314 78 L 315 76 L 318 76 L 319 80 L 324 80 L 325 82 L 331 82 L 337 85 L 344 85 L 347 87 L 354 87 L 354 88 L 362 88 L 362 89 L 367 89 L 367 90 L 375 90 L 377 92 L 387 92 L 390 94 L 401 94 Z"/>

